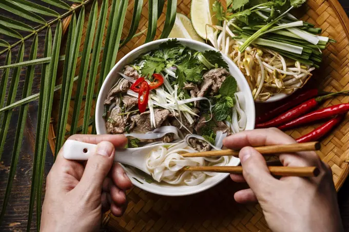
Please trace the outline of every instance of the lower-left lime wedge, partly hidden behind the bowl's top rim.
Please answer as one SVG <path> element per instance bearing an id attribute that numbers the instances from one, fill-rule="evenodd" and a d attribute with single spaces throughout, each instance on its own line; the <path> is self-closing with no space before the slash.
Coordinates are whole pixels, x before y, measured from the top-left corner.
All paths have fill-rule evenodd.
<path id="1" fill-rule="evenodd" d="M 189 18 L 181 13 L 177 13 L 175 25 L 173 25 L 173 28 L 168 37 L 188 38 L 191 40 L 204 42 L 204 40 L 196 33 Z"/>

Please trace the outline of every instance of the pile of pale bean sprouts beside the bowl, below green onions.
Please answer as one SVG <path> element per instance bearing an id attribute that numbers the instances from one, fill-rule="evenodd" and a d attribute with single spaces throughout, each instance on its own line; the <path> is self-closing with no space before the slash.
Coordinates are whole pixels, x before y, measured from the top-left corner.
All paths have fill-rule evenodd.
<path id="1" fill-rule="evenodd" d="M 266 101 L 281 92 L 293 93 L 312 76 L 314 67 L 288 59 L 275 50 L 251 45 L 241 53 L 239 47 L 242 42 L 235 40 L 229 26 L 232 26 L 231 22 L 226 21 L 223 26 L 211 26 L 216 29 L 214 46 L 239 67 L 255 101 Z M 218 31 L 220 34 L 217 36 Z"/>

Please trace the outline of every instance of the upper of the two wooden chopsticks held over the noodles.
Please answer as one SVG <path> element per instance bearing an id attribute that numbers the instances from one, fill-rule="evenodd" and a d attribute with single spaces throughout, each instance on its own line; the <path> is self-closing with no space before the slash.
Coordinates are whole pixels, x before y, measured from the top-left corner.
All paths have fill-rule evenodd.
<path id="1" fill-rule="evenodd" d="M 284 144 L 284 145 L 273 145 L 264 147 L 255 147 L 264 156 L 275 156 L 279 153 L 293 153 L 299 151 L 314 151 L 320 150 L 319 142 L 309 142 L 309 143 L 294 143 L 294 144 Z M 204 151 L 197 153 L 184 153 L 181 154 L 183 157 L 216 157 L 216 156 L 235 156 L 239 157 L 239 150 L 215 150 L 215 151 Z"/>

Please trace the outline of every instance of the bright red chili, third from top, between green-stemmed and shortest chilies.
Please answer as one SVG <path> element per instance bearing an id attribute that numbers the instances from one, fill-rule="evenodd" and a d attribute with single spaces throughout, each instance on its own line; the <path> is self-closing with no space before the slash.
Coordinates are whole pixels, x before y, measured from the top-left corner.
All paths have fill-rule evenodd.
<path id="1" fill-rule="evenodd" d="M 346 113 L 347 111 L 349 111 L 349 103 L 330 106 L 324 109 L 318 109 L 311 113 L 305 114 L 298 119 L 290 121 L 283 126 L 280 126 L 279 129 L 281 130 L 290 129 L 290 128 L 311 123 L 320 119 L 331 118 L 337 114 Z"/>

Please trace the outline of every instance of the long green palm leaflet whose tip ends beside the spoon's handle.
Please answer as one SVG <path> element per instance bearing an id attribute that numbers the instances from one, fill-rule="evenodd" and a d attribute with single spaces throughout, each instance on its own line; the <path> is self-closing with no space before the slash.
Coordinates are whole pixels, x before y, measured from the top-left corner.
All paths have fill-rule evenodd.
<path id="1" fill-rule="evenodd" d="M 61 96 L 60 111 L 59 111 L 60 120 L 59 120 L 59 123 L 57 124 L 58 126 L 57 126 L 57 136 L 56 136 L 55 157 L 58 151 L 63 146 L 63 142 L 64 142 L 64 134 L 65 134 L 66 124 L 68 119 L 69 103 L 70 103 L 71 91 L 73 87 L 73 78 L 74 78 L 74 72 L 76 68 L 77 54 L 79 53 L 81 35 L 82 35 L 83 26 L 84 26 L 84 17 L 85 17 L 85 8 L 83 7 L 80 12 L 79 19 L 77 20 L 76 25 L 75 25 L 76 17 L 75 17 L 75 14 L 73 14 L 73 20 L 70 23 L 72 27 L 69 27 L 69 33 L 70 33 L 70 30 L 72 31 L 70 33 L 72 40 L 71 40 L 71 44 L 67 46 L 67 50 L 66 50 L 66 54 L 68 54 L 69 52 L 69 59 L 68 60 L 66 59 L 64 64 L 64 72 L 63 72 L 63 78 L 62 78 L 62 93 L 61 93 L 63 95 L 63 98 Z"/>

